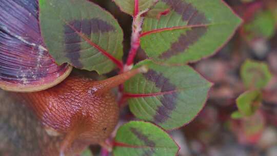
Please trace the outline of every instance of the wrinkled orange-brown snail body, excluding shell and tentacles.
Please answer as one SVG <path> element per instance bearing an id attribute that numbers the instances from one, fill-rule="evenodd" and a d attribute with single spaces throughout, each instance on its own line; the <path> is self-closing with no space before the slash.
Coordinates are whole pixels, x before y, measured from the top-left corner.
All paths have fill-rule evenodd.
<path id="1" fill-rule="evenodd" d="M 78 125 L 78 139 L 99 143 L 108 138 L 118 121 L 118 105 L 109 91 L 95 95 L 97 82 L 68 77 L 44 91 L 21 93 L 46 127 L 67 133 Z"/>

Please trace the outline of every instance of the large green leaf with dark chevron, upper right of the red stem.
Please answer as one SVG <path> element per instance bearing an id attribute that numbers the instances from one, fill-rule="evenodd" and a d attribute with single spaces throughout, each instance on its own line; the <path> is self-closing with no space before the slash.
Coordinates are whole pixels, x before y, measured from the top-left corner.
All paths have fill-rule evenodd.
<path id="1" fill-rule="evenodd" d="M 212 55 L 242 22 L 221 0 L 161 0 L 156 6 L 171 9 L 144 20 L 141 47 L 156 62 L 185 64 Z"/>

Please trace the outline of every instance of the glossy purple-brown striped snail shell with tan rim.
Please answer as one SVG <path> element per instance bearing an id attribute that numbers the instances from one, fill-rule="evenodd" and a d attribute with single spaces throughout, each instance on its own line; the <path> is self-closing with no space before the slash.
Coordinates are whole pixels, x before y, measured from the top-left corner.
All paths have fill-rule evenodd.
<path id="1" fill-rule="evenodd" d="M 38 2 L 9 0 L 0 3 L 0 88 L 31 92 L 62 82 L 71 72 L 49 55 L 38 22 Z"/>

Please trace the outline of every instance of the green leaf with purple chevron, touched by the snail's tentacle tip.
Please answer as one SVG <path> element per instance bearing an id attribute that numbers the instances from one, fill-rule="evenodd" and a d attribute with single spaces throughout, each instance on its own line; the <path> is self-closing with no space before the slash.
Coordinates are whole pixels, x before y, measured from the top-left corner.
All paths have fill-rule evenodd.
<path id="1" fill-rule="evenodd" d="M 124 85 L 132 113 L 166 130 L 189 123 L 207 100 L 211 83 L 189 66 L 163 66 L 143 61 L 149 71 Z"/>

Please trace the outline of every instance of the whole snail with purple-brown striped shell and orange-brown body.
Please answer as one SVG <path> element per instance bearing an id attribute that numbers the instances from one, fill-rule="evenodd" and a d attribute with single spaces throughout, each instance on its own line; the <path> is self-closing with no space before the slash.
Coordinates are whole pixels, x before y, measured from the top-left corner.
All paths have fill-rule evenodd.
<path id="1" fill-rule="evenodd" d="M 140 67 L 102 81 L 69 76 L 72 66 L 57 65 L 43 42 L 38 2 L 0 4 L 0 88 L 26 101 L 50 135 L 65 136 L 61 153 L 75 140 L 104 144 L 119 113 L 110 90 L 146 70 Z"/>

